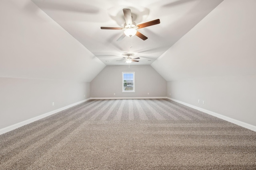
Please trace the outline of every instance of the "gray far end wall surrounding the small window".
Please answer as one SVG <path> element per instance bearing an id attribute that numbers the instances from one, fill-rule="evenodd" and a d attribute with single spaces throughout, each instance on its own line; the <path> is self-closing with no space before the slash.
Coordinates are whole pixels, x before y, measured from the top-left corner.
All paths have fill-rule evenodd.
<path id="1" fill-rule="evenodd" d="M 122 93 L 122 72 L 135 72 L 134 93 Z M 106 66 L 91 82 L 91 97 L 166 97 L 166 80 L 150 65 Z"/>

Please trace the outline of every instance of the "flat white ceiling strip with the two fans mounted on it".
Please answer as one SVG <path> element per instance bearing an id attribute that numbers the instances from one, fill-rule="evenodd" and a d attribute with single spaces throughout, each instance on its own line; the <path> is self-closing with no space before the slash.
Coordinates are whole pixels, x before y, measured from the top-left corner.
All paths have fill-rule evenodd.
<path id="1" fill-rule="evenodd" d="M 124 53 L 140 57 L 131 64 L 152 64 L 222 1 L 32 0 L 106 65 L 124 65 Z M 134 36 L 117 42 L 123 30 L 100 27 L 123 27 L 123 8 L 131 9 L 137 24 L 156 19 L 160 24 L 140 29 L 145 41 Z"/>

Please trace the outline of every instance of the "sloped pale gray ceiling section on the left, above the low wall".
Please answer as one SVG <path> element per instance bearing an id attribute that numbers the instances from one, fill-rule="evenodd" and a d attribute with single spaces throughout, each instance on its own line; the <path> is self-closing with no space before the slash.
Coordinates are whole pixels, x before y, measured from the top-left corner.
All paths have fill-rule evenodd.
<path id="1" fill-rule="evenodd" d="M 1 0 L 0 23 L 0 77 L 90 82 L 106 66 L 30 0 Z"/>

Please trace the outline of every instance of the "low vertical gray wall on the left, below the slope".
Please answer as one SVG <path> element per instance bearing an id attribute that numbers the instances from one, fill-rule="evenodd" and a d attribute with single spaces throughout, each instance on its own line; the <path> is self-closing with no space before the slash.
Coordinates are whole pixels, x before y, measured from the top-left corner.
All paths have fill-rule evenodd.
<path id="1" fill-rule="evenodd" d="M 90 98 L 90 83 L 0 78 L 0 94 L 2 129 Z"/>

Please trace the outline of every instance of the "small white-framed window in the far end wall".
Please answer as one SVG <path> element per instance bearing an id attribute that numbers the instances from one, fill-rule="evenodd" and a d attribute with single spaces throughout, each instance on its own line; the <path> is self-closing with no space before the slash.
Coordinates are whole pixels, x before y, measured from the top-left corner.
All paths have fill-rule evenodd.
<path id="1" fill-rule="evenodd" d="M 122 92 L 135 92 L 135 72 L 122 72 Z"/>

